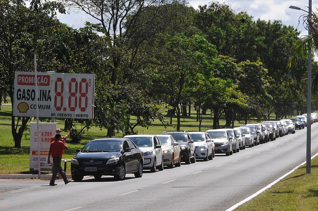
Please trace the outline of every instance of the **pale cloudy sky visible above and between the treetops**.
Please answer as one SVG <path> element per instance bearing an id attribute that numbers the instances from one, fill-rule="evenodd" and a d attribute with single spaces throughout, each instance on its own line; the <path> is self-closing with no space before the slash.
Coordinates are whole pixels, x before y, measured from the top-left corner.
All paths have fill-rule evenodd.
<path id="1" fill-rule="evenodd" d="M 209 5 L 211 1 L 188 0 L 188 2 L 194 9 L 198 9 L 199 5 Z M 297 27 L 299 31 L 302 31 L 301 34 L 308 34 L 307 30 L 303 27 L 303 19 L 302 17 L 300 18 L 305 12 L 288 8 L 290 5 L 294 5 L 308 11 L 308 0 L 219 0 L 218 2 L 225 2 L 231 5 L 232 9 L 237 12 L 246 11 L 250 16 L 254 17 L 254 20 L 258 18 L 266 21 L 281 20 L 285 25 Z M 312 0 L 312 10 L 314 12 L 318 12 L 316 10 L 317 7 L 318 0 Z M 83 12 L 69 12 L 70 14 L 58 14 L 57 17 L 62 23 L 67 23 L 74 28 L 79 29 L 83 27 L 86 21 L 99 23 Z M 298 21 L 300 21 L 299 25 Z"/>

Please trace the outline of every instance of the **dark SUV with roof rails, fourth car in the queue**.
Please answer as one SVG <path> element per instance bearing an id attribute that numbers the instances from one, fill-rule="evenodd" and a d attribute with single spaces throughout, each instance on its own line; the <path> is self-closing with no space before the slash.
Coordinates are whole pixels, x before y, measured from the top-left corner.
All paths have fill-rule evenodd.
<path id="1" fill-rule="evenodd" d="M 188 131 L 164 131 L 162 134 L 172 135 L 181 149 L 181 160 L 186 164 L 196 162 L 196 148 Z"/>

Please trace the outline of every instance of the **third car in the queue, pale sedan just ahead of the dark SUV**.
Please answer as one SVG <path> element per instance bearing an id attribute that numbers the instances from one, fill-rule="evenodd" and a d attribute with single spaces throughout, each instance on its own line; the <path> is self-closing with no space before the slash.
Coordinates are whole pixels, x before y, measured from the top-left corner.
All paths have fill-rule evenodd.
<path id="1" fill-rule="evenodd" d="M 181 150 L 179 143 L 172 135 L 157 135 L 163 152 L 163 164 L 168 168 L 181 166 Z"/>

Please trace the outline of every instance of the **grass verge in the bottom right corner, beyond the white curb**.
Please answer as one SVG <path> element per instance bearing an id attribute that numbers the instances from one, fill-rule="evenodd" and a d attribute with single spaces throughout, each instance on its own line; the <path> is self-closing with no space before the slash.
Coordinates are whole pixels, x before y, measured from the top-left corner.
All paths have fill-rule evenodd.
<path id="1" fill-rule="evenodd" d="M 318 210 L 318 157 L 311 161 L 311 174 L 304 165 L 238 210 Z"/>

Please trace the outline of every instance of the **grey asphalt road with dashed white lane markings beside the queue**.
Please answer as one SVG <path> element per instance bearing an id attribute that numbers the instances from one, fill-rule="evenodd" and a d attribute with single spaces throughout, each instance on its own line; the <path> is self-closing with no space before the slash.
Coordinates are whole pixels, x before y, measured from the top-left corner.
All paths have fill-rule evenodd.
<path id="1" fill-rule="evenodd" d="M 312 155 L 318 152 L 312 124 Z M 306 161 L 306 128 L 207 162 L 126 180 L 0 180 L 0 210 L 226 210 Z"/>

